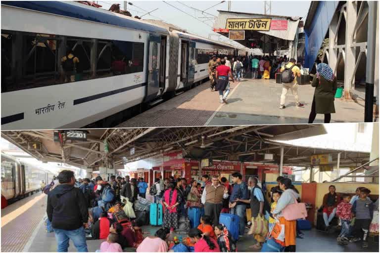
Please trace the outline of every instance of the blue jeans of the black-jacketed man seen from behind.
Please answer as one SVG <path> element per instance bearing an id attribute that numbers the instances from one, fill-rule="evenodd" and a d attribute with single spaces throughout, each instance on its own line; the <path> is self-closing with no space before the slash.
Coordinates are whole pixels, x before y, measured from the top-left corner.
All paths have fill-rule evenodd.
<path id="1" fill-rule="evenodd" d="M 69 248 L 69 240 L 73 241 L 78 252 L 89 252 L 86 243 L 86 233 L 83 227 L 75 230 L 64 230 L 53 228 L 55 240 L 57 241 L 57 252 L 67 252 Z"/>

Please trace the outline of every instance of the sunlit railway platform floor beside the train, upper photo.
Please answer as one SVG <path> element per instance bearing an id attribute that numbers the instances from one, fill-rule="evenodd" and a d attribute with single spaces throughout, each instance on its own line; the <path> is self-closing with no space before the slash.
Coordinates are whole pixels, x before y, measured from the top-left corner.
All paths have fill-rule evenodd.
<path id="1" fill-rule="evenodd" d="M 177 127 L 177 126 L 236 126 L 260 124 L 308 123 L 314 87 L 299 85 L 298 95 L 304 108 L 295 108 L 293 95 L 286 95 L 285 109 L 279 109 L 282 84 L 275 80 L 243 79 L 231 83 L 228 104 L 220 104 L 218 92 L 210 91 L 205 82 L 117 127 Z M 364 100 L 344 101 L 335 99 L 332 123 L 362 122 Z M 314 123 L 323 123 L 324 115 L 318 114 Z"/>

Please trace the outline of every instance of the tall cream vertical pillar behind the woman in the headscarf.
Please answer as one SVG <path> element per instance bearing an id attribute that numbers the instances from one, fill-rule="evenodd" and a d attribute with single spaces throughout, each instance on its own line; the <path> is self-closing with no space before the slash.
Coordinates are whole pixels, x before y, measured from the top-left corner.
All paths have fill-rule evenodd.
<path id="1" fill-rule="evenodd" d="M 356 3 L 347 1 L 346 5 L 346 44 L 345 44 L 345 59 L 344 59 L 344 99 L 352 100 L 352 72 L 355 69 L 355 47 L 351 47 L 352 38 L 356 23 Z"/>

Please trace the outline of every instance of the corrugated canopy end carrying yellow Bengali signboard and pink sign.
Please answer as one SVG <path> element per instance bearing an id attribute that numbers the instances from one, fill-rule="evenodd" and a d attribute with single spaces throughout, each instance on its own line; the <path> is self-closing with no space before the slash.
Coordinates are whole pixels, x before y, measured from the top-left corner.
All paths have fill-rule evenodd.
<path id="1" fill-rule="evenodd" d="M 213 31 L 229 38 L 230 31 L 244 31 L 245 39 L 236 40 L 244 46 L 258 41 L 258 45 L 265 43 L 285 44 L 293 41 L 298 32 L 300 17 L 264 15 L 245 12 L 218 10 Z M 266 22 L 266 23 L 265 23 Z M 264 35 L 267 37 L 264 38 Z M 258 46 L 257 45 L 257 46 Z"/>

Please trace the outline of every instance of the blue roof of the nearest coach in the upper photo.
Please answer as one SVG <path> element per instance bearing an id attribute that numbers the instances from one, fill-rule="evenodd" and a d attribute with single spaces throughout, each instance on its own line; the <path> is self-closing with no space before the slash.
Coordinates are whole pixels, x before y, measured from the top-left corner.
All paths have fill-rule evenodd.
<path id="1" fill-rule="evenodd" d="M 1 1 L 1 5 L 82 19 L 133 30 L 166 35 L 169 34 L 166 29 L 142 20 L 73 1 Z"/>

